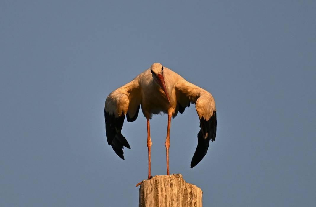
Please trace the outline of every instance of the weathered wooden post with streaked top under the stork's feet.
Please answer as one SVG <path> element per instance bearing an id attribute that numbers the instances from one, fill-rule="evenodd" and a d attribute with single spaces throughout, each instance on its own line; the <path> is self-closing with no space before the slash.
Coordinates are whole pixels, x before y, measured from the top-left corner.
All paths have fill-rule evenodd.
<path id="1" fill-rule="evenodd" d="M 201 188 L 187 183 L 181 174 L 156 175 L 139 188 L 139 207 L 202 207 Z"/>

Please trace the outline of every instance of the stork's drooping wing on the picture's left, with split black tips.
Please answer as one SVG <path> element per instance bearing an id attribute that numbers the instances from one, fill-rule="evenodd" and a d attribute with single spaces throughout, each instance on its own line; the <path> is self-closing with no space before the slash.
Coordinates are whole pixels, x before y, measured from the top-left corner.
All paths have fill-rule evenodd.
<path id="1" fill-rule="evenodd" d="M 107 143 L 124 159 L 123 146 L 131 148 L 121 130 L 125 115 L 128 122 L 136 120 L 141 104 L 141 92 L 137 78 L 110 93 L 105 101 L 104 117 Z"/>

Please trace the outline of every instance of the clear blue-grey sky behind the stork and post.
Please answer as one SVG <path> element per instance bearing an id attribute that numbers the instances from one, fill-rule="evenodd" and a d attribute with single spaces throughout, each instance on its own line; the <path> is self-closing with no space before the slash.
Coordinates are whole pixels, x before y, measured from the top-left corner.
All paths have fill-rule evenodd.
<path id="1" fill-rule="evenodd" d="M 315 1 L 1 1 L 0 206 L 138 206 L 146 119 L 105 137 L 104 102 L 154 62 L 210 91 L 217 135 L 193 169 L 194 105 L 171 122 L 170 173 L 204 206 L 315 206 Z M 167 115 L 151 121 L 166 174 Z"/>

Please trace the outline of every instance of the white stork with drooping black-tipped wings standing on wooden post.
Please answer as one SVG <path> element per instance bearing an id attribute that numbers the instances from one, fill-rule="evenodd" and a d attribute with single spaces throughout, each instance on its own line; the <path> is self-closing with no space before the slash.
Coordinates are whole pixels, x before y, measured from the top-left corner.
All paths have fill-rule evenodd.
<path id="1" fill-rule="evenodd" d="M 139 107 L 147 119 L 147 147 L 148 147 L 148 179 L 150 179 L 150 139 L 149 119 L 160 112 L 168 114 L 167 138 L 165 142 L 167 153 L 167 175 L 169 175 L 169 146 L 170 122 L 178 112 L 183 113 L 186 106 L 195 104 L 200 118 L 200 131 L 197 134 L 197 148 L 194 152 L 191 168 L 197 165 L 205 156 L 209 142 L 216 136 L 216 107 L 213 96 L 206 90 L 187 82 L 177 73 L 154 63 L 139 74 L 131 82 L 114 90 L 105 101 L 104 115 L 106 138 L 114 152 L 124 159 L 123 146 L 130 145 L 122 135 L 123 122 L 136 120 Z M 139 184 L 137 184 L 138 186 Z"/>

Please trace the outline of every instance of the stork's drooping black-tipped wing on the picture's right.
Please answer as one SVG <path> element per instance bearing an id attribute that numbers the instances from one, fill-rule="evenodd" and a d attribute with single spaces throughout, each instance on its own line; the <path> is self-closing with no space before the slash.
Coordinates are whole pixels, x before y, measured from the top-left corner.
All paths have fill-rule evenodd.
<path id="1" fill-rule="evenodd" d="M 206 90 L 183 80 L 175 84 L 179 112 L 183 112 L 186 106 L 195 103 L 197 115 L 200 118 L 200 131 L 197 134 L 197 148 L 194 152 L 191 168 L 204 158 L 210 141 L 216 136 L 216 107 L 213 96 Z"/>

